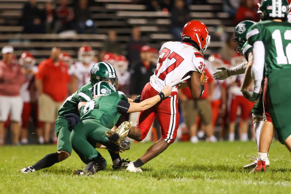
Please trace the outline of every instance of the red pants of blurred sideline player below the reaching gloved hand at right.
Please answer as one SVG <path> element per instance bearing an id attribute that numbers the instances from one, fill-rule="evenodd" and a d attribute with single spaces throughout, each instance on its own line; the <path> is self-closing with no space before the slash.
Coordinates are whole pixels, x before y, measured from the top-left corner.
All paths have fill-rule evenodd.
<path id="1" fill-rule="evenodd" d="M 244 96 L 233 95 L 231 99 L 231 104 L 230 104 L 230 113 L 229 113 L 230 122 L 236 121 L 236 117 L 237 117 L 236 112 L 237 112 L 238 106 L 240 106 L 240 109 L 241 109 L 240 118 L 243 121 L 246 121 L 250 116 L 253 103 L 245 99 Z"/>

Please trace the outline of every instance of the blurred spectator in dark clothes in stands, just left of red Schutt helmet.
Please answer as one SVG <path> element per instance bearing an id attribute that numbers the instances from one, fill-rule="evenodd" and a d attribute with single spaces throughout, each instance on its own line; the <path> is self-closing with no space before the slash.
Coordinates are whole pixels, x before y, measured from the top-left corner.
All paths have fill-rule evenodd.
<path id="1" fill-rule="evenodd" d="M 189 9 L 185 7 L 183 0 L 175 0 L 175 6 L 171 10 L 172 35 L 176 41 L 181 40 L 183 26 L 190 20 Z"/>

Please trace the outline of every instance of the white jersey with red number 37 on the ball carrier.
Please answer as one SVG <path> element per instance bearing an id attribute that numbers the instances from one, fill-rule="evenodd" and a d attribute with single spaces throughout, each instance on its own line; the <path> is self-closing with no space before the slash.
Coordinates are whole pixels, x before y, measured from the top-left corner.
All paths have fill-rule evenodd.
<path id="1" fill-rule="evenodd" d="M 178 92 L 175 86 L 189 79 L 189 72 L 202 74 L 204 68 L 204 57 L 196 48 L 182 42 L 166 42 L 159 51 L 157 68 L 150 84 L 158 92 L 166 85 L 173 87 L 172 92 Z"/>

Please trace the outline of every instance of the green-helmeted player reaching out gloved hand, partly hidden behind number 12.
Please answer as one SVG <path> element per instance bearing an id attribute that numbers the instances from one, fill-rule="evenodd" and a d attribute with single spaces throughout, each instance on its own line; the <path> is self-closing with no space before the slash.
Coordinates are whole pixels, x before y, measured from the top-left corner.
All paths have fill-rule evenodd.
<path id="1" fill-rule="evenodd" d="M 241 85 L 241 91 L 243 95 L 245 96 L 246 99 L 248 99 L 251 102 L 254 102 L 250 98 L 250 93 L 248 92 L 247 88 L 252 82 L 252 77 L 251 77 L 251 68 L 253 66 L 253 46 L 249 45 L 248 41 L 246 40 L 246 33 L 247 30 L 252 26 L 256 24 L 256 22 L 253 21 L 243 21 L 240 22 L 234 29 L 233 33 L 233 38 L 232 41 L 237 42 L 237 45 L 235 46 L 234 50 L 238 55 L 244 55 L 247 62 L 244 62 L 236 67 L 233 68 L 225 68 L 225 67 L 220 67 L 217 68 L 218 71 L 214 73 L 214 78 L 218 80 L 223 80 L 228 78 L 231 75 L 239 75 L 239 74 L 245 74 L 243 84 Z M 257 149 L 259 149 L 259 137 L 261 131 L 267 131 L 269 134 L 269 131 L 273 131 L 273 124 L 270 119 L 264 119 L 263 117 L 263 112 L 264 112 L 264 107 L 263 107 L 263 92 L 260 93 L 259 99 L 256 102 L 256 104 L 253 106 L 252 109 L 252 114 L 253 114 L 253 126 L 254 126 L 254 132 L 255 132 L 255 137 L 256 137 L 256 143 L 257 143 Z M 257 164 L 257 158 L 254 156 L 251 157 L 251 163 L 247 164 L 244 166 L 245 169 L 248 168 L 253 168 Z M 269 166 L 269 158 L 267 157 L 266 159 L 266 166 Z"/>

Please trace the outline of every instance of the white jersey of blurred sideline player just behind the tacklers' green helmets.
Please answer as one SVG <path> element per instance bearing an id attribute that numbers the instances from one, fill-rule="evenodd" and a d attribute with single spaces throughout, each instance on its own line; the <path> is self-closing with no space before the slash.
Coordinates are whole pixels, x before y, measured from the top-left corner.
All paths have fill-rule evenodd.
<path id="1" fill-rule="evenodd" d="M 90 62 L 88 67 L 85 67 L 82 62 L 75 62 L 69 69 L 70 75 L 75 75 L 78 79 L 77 88 L 82 87 L 90 81 L 91 68 L 95 62 Z"/>

